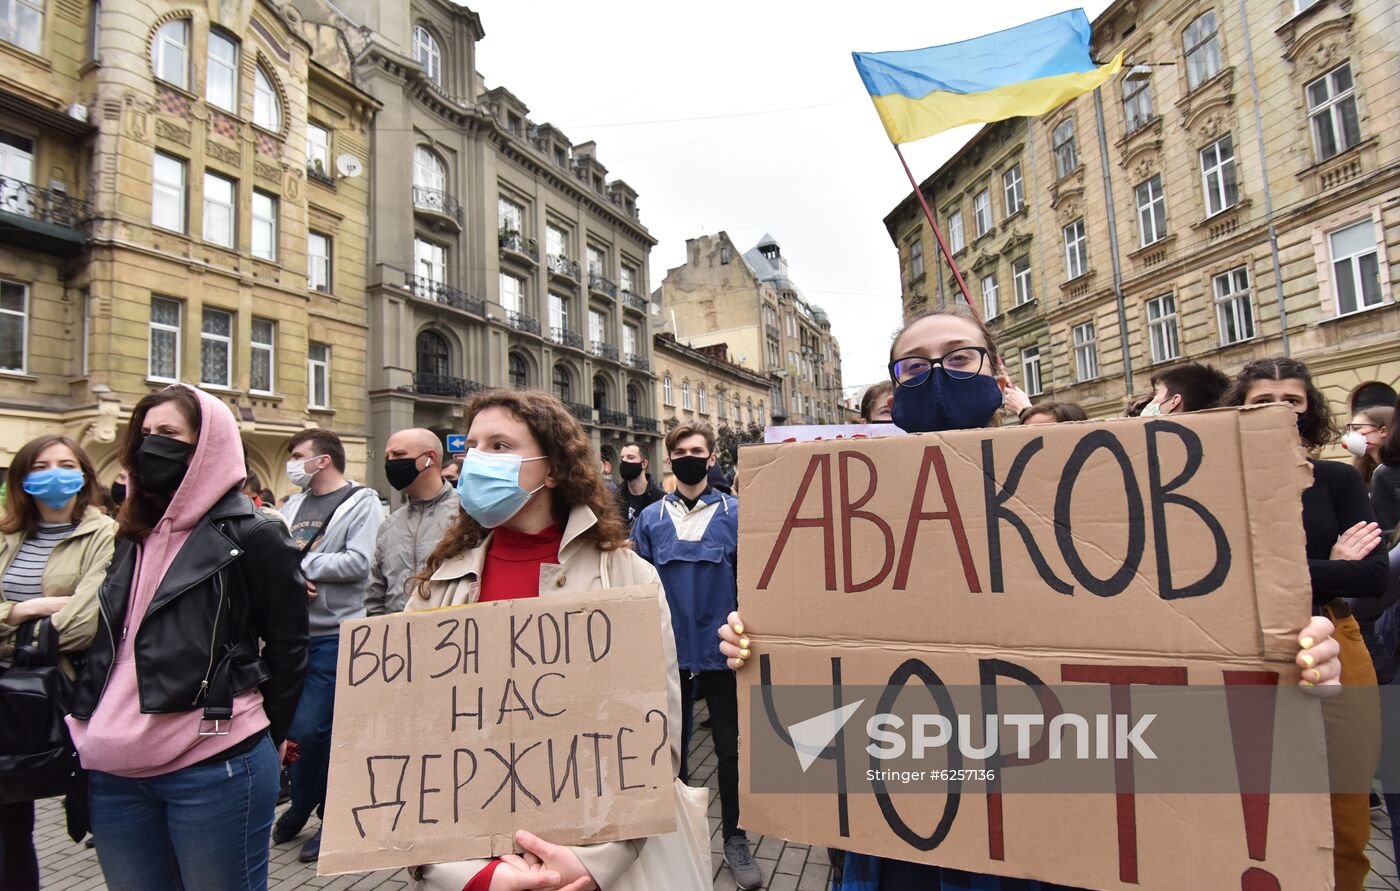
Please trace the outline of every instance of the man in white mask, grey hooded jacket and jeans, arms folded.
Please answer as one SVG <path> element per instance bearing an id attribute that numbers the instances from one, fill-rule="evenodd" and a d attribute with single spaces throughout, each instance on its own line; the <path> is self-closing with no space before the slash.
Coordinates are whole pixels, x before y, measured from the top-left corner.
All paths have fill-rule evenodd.
<path id="1" fill-rule="evenodd" d="M 311 811 L 323 811 L 330 769 L 330 714 L 335 709 L 340 622 L 364 615 L 374 541 L 384 521 L 374 489 L 346 479 L 346 450 L 329 430 L 302 430 L 287 443 L 287 479 L 301 489 L 283 509 L 291 538 L 301 551 L 301 572 L 309 595 L 311 642 L 307 685 L 288 738 L 301 758 L 291 765 L 291 806 L 273 827 L 273 842 L 284 845 L 301 834 Z M 321 857 L 321 829 L 298 859 Z"/>

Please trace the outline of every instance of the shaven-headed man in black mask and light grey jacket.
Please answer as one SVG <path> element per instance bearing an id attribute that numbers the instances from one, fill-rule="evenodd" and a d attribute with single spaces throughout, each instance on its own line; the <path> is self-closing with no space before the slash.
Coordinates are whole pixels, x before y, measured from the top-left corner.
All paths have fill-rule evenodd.
<path id="1" fill-rule="evenodd" d="M 421 427 L 399 430 L 384 446 L 384 476 L 405 502 L 379 527 L 364 594 L 368 615 L 403 611 L 409 579 L 461 513 L 456 489 L 442 479 L 441 455 L 437 434 Z"/>

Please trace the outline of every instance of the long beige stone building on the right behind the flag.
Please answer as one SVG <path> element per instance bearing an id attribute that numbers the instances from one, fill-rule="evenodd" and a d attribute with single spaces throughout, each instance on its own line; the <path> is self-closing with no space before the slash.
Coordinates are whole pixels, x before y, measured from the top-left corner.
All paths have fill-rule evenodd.
<path id="1" fill-rule="evenodd" d="M 1092 94 L 984 126 L 921 186 L 1012 377 L 1107 416 L 1161 367 L 1203 360 L 1233 373 L 1282 354 L 1287 339 L 1343 422 L 1392 403 L 1390 11 L 1117 0 L 1095 21 L 1093 55 L 1119 52 L 1124 73 L 1102 91 L 1112 202 Z M 885 224 L 906 315 L 952 301 L 958 287 L 914 195 Z"/>

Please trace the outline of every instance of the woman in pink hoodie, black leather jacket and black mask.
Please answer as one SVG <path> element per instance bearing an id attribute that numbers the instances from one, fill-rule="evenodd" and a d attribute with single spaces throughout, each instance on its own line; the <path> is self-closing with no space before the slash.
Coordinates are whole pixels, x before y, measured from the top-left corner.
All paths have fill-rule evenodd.
<path id="1" fill-rule="evenodd" d="M 239 493 L 228 406 L 176 384 L 122 441 L 127 497 L 69 727 L 112 891 L 267 887 L 279 751 L 307 667 L 286 527 Z"/>

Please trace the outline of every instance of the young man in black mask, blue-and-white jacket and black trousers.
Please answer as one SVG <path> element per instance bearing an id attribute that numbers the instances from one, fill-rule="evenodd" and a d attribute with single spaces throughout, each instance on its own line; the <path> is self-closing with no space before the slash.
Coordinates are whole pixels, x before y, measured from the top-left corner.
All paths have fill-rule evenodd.
<path id="1" fill-rule="evenodd" d="M 666 434 L 676 490 L 641 511 L 631 538 L 641 559 L 657 567 L 671 607 L 680 667 L 680 782 L 689 782 L 692 705 L 699 689 L 710 707 L 720 761 L 724 859 L 741 888 L 763 876 L 739 828 L 739 702 L 734 672 L 720 653 L 715 619 L 738 602 L 739 502 L 708 482 L 715 438 L 710 424 L 680 424 Z"/>

